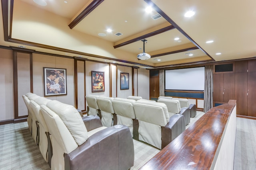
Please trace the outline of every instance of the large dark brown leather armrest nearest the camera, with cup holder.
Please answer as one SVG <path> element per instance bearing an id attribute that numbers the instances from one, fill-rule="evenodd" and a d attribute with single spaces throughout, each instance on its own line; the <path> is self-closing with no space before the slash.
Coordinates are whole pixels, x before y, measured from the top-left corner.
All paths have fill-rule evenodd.
<path id="1" fill-rule="evenodd" d="M 103 129 L 64 154 L 65 170 L 130 169 L 134 165 L 134 145 L 130 129 L 122 125 Z"/>

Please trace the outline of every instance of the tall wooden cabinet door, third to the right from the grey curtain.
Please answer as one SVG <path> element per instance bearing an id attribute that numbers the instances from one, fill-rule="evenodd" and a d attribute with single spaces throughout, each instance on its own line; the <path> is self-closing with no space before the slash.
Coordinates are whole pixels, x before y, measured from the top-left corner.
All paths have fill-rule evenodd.
<path id="1" fill-rule="evenodd" d="M 235 75 L 236 114 L 247 115 L 247 72 Z"/>

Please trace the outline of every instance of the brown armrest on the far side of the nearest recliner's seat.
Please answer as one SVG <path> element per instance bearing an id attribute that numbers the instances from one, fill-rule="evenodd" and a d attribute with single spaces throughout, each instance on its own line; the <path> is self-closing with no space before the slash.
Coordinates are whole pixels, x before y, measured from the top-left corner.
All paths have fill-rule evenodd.
<path id="1" fill-rule="evenodd" d="M 102 127 L 100 117 L 98 117 L 96 115 L 84 116 L 84 117 L 82 117 L 82 119 L 84 121 L 84 125 L 85 125 L 87 131 L 91 131 L 98 127 Z"/>

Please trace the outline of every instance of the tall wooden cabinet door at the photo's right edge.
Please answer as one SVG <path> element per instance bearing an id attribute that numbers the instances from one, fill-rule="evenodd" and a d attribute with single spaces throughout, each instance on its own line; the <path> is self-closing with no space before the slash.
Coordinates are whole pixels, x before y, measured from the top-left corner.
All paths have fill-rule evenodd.
<path id="1" fill-rule="evenodd" d="M 256 72 L 248 72 L 247 115 L 256 117 Z"/>

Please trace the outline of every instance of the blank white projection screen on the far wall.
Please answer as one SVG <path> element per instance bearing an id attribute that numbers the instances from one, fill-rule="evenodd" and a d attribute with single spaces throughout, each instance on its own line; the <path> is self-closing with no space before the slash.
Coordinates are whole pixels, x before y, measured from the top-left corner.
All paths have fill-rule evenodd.
<path id="1" fill-rule="evenodd" d="M 165 70 L 166 90 L 204 90 L 204 67 Z"/>

